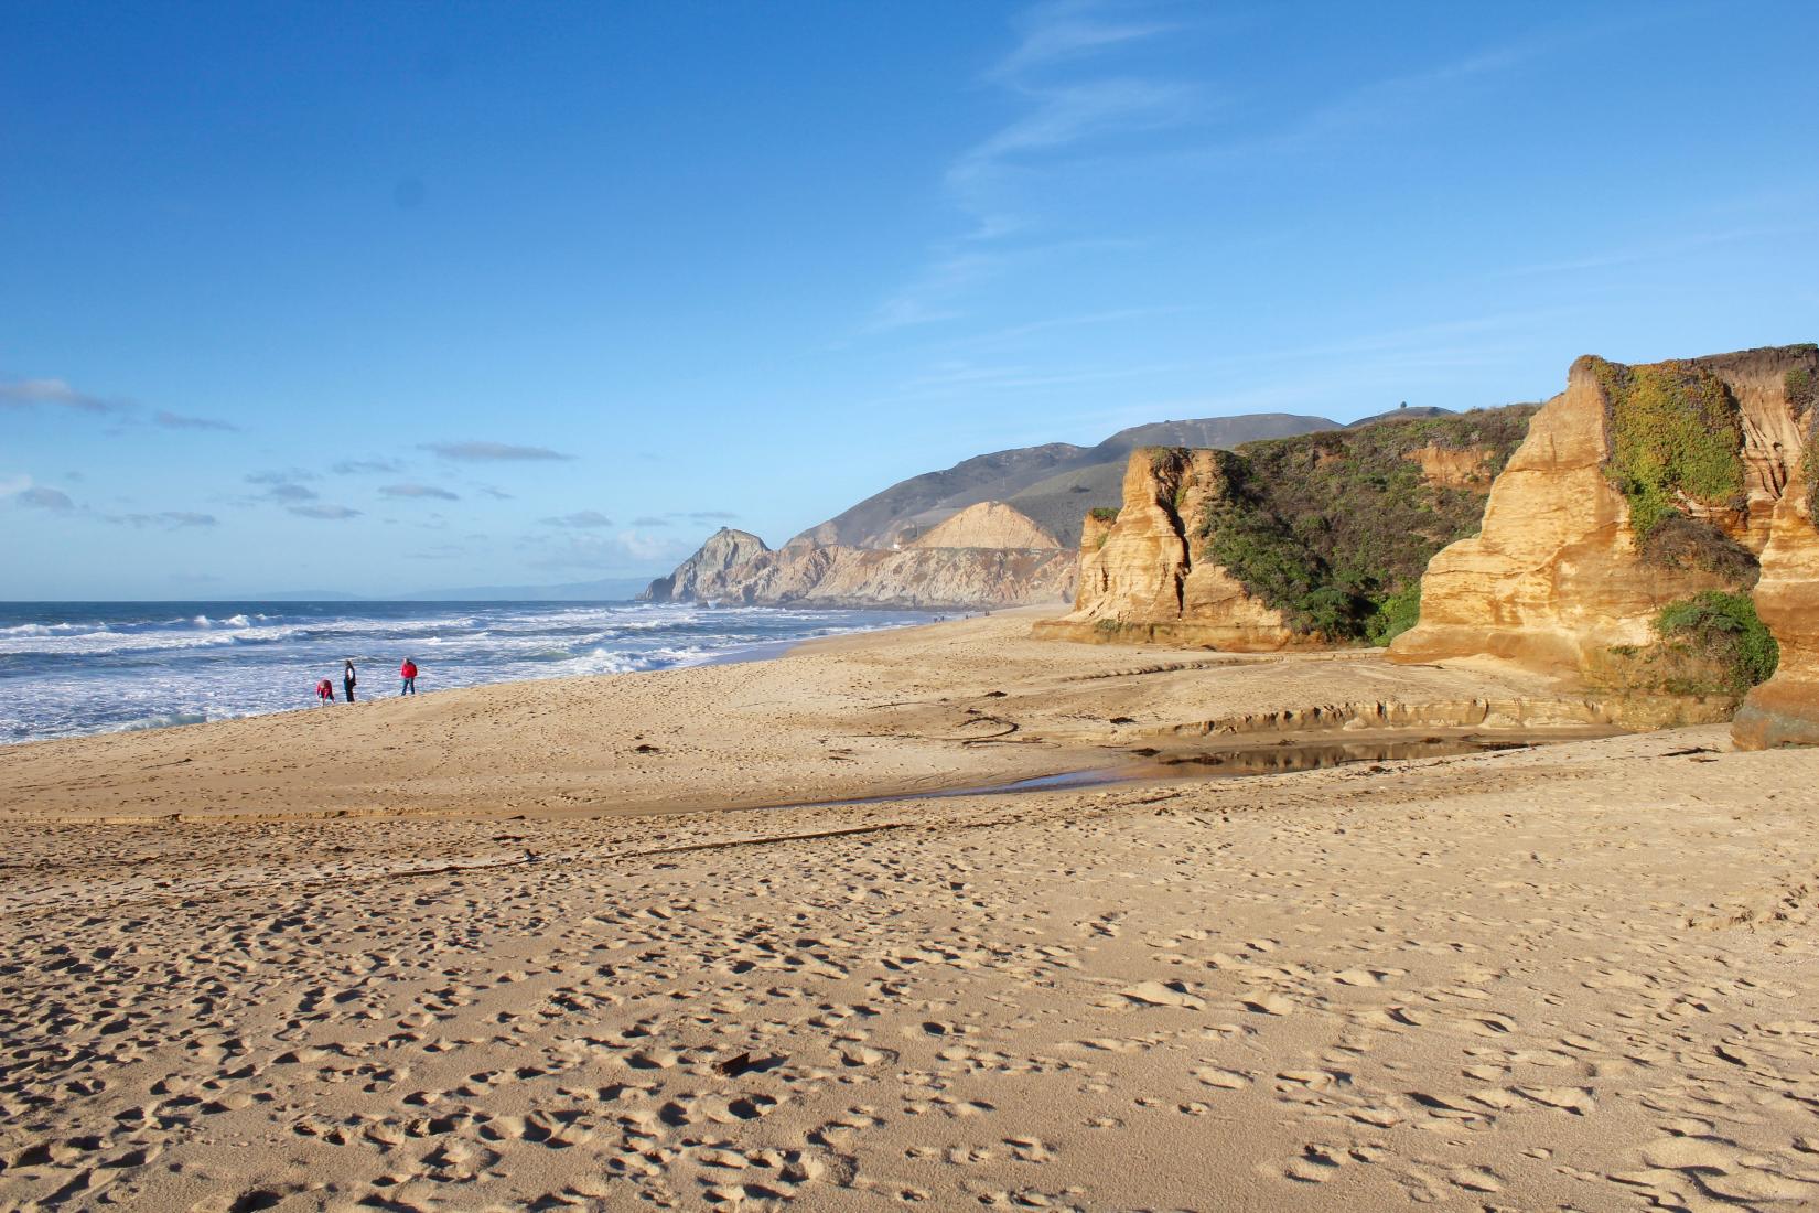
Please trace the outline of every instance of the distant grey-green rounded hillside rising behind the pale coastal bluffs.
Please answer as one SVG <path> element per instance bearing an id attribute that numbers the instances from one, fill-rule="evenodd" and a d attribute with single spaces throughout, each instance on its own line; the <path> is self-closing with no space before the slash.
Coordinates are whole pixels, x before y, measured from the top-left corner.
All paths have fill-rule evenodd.
<path id="1" fill-rule="evenodd" d="M 1080 516 L 1088 509 L 1117 506 L 1124 460 L 1137 447 L 1233 447 L 1257 438 L 1284 438 L 1321 429 L 1339 429 L 1339 422 L 1291 413 L 1251 413 L 1131 426 L 1091 447 L 1050 442 L 975 455 L 944 471 L 900 480 L 789 542 L 889 547 L 913 540 L 968 506 L 1008 502 L 1050 531 L 1064 547 L 1071 547 L 1079 542 Z M 1077 478 L 1060 480 L 1062 476 Z M 1026 489 L 1033 491 L 1031 496 L 1020 496 Z"/>

